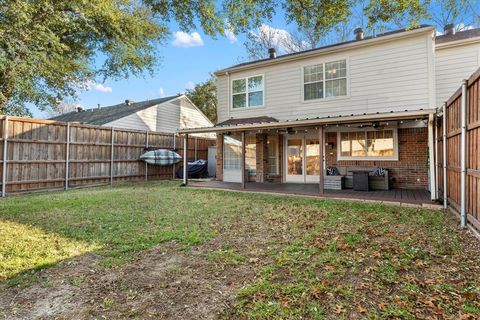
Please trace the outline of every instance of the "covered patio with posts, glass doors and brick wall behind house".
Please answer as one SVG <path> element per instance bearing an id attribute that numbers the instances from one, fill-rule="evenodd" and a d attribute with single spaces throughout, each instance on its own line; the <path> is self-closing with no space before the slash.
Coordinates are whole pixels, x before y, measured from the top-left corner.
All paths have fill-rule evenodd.
<path id="1" fill-rule="evenodd" d="M 183 183 L 435 206 L 435 126 L 434 110 L 405 110 L 283 122 L 231 119 L 213 128 L 184 129 L 184 148 L 189 134 L 217 134 L 217 175 L 189 180 L 184 158 Z"/>

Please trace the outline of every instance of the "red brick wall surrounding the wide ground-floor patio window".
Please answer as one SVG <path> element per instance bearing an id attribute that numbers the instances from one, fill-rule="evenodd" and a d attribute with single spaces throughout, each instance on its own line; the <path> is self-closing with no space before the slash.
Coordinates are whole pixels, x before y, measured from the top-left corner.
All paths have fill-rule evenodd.
<path id="1" fill-rule="evenodd" d="M 391 188 L 428 188 L 427 128 L 398 129 L 398 161 L 337 161 L 337 133 L 327 132 L 327 166 L 384 167 L 389 171 Z"/>

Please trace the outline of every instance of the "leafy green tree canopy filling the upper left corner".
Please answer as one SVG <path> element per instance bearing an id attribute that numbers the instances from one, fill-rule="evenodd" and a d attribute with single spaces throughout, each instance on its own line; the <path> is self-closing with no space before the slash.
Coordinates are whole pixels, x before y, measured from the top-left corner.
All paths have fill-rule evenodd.
<path id="1" fill-rule="evenodd" d="M 89 81 L 153 72 L 166 27 L 133 0 L 0 0 L 0 113 L 28 115 Z"/>

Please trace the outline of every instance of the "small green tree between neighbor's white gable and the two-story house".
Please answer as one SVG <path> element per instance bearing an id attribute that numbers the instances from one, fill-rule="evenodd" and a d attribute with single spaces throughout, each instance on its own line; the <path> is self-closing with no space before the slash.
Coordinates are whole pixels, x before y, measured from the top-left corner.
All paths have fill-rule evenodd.
<path id="1" fill-rule="evenodd" d="M 213 123 L 217 122 L 217 88 L 215 77 L 187 89 L 186 95 Z"/>

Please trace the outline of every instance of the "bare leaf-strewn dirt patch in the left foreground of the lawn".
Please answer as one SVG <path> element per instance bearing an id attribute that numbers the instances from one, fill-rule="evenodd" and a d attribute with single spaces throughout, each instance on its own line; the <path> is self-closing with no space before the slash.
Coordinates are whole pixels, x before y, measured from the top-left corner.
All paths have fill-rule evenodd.
<path id="1" fill-rule="evenodd" d="M 247 253 L 241 261 L 222 256 Z M 165 318 L 215 319 L 253 280 L 264 239 L 218 237 L 193 249 L 166 243 L 121 267 L 105 269 L 85 255 L 38 272 L 24 289 L 2 285 L 0 316 L 5 319 Z M 241 246 L 241 248 L 240 248 Z M 262 259 L 262 263 L 267 263 Z"/>

